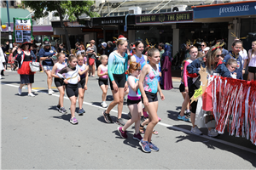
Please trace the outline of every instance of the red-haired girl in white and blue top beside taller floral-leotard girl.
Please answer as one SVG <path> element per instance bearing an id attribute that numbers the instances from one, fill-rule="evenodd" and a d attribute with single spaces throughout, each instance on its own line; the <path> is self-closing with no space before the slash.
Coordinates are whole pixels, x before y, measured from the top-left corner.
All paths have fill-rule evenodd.
<path id="1" fill-rule="evenodd" d="M 131 119 L 125 123 L 124 127 L 118 127 L 119 134 L 122 138 L 127 138 L 128 127 L 131 127 L 132 123 L 135 123 L 135 133 L 133 135 L 133 139 L 141 141 L 143 137 L 140 134 L 140 118 L 143 111 L 143 104 L 141 100 L 141 92 L 138 89 L 138 75 L 141 71 L 141 65 L 137 62 L 131 62 L 129 66 L 129 70 L 126 71 L 127 74 L 131 74 L 128 77 L 128 88 L 129 94 L 127 99 L 127 105 L 131 112 Z"/>

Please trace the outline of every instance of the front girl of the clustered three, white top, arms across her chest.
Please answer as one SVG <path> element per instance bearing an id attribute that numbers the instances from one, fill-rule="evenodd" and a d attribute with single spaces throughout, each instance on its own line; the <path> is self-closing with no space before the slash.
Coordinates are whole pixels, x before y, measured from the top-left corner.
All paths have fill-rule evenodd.
<path id="1" fill-rule="evenodd" d="M 75 110 L 76 110 L 76 102 L 79 96 L 78 83 L 80 81 L 79 66 L 77 64 L 78 64 L 77 57 L 74 55 L 70 55 L 68 57 L 68 65 L 57 73 L 58 77 L 61 77 L 66 84 L 67 97 L 71 101 L 71 106 L 70 106 L 71 119 L 69 122 L 71 122 L 72 124 L 79 123 L 76 117 L 74 116 Z"/>

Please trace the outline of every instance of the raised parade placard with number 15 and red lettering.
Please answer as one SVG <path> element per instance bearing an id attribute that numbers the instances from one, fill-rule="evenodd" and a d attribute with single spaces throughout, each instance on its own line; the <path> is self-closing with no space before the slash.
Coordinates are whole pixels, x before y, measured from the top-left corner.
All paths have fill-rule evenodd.
<path id="1" fill-rule="evenodd" d="M 32 19 L 14 19 L 14 38 L 15 42 L 31 42 L 32 41 Z"/>

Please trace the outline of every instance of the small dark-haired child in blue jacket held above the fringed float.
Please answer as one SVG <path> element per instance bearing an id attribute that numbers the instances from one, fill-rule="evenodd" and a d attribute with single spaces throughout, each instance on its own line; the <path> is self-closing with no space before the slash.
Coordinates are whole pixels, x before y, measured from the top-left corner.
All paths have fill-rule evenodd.
<path id="1" fill-rule="evenodd" d="M 224 64 L 226 64 L 226 62 L 228 62 L 229 59 L 236 59 L 237 62 L 237 67 L 236 67 L 236 78 L 237 79 L 243 79 L 242 75 L 245 72 L 245 68 L 244 65 L 242 64 L 242 58 L 241 55 L 239 54 L 239 52 L 241 51 L 242 48 L 242 42 L 241 40 L 235 40 L 232 43 L 232 51 L 230 51 L 229 54 L 227 54 L 226 56 L 224 56 Z M 245 65 L 246 67 L 246 65 Z"/>

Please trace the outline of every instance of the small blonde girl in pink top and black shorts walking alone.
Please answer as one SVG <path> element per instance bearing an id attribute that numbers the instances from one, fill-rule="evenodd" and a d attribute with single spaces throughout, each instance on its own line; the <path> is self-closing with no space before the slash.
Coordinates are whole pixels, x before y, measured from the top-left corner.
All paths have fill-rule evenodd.
<path id="1" fill-rule="evenodd" d="M 100 57 L 102 65 L 99 65 L 97 73 L 99 77 L 99 86 L 102 88 L 102 107 L 106 108 L 108 105 L 106 104 L 106 97 L 108 92 L 108 56 L 102 55 Z"/>

